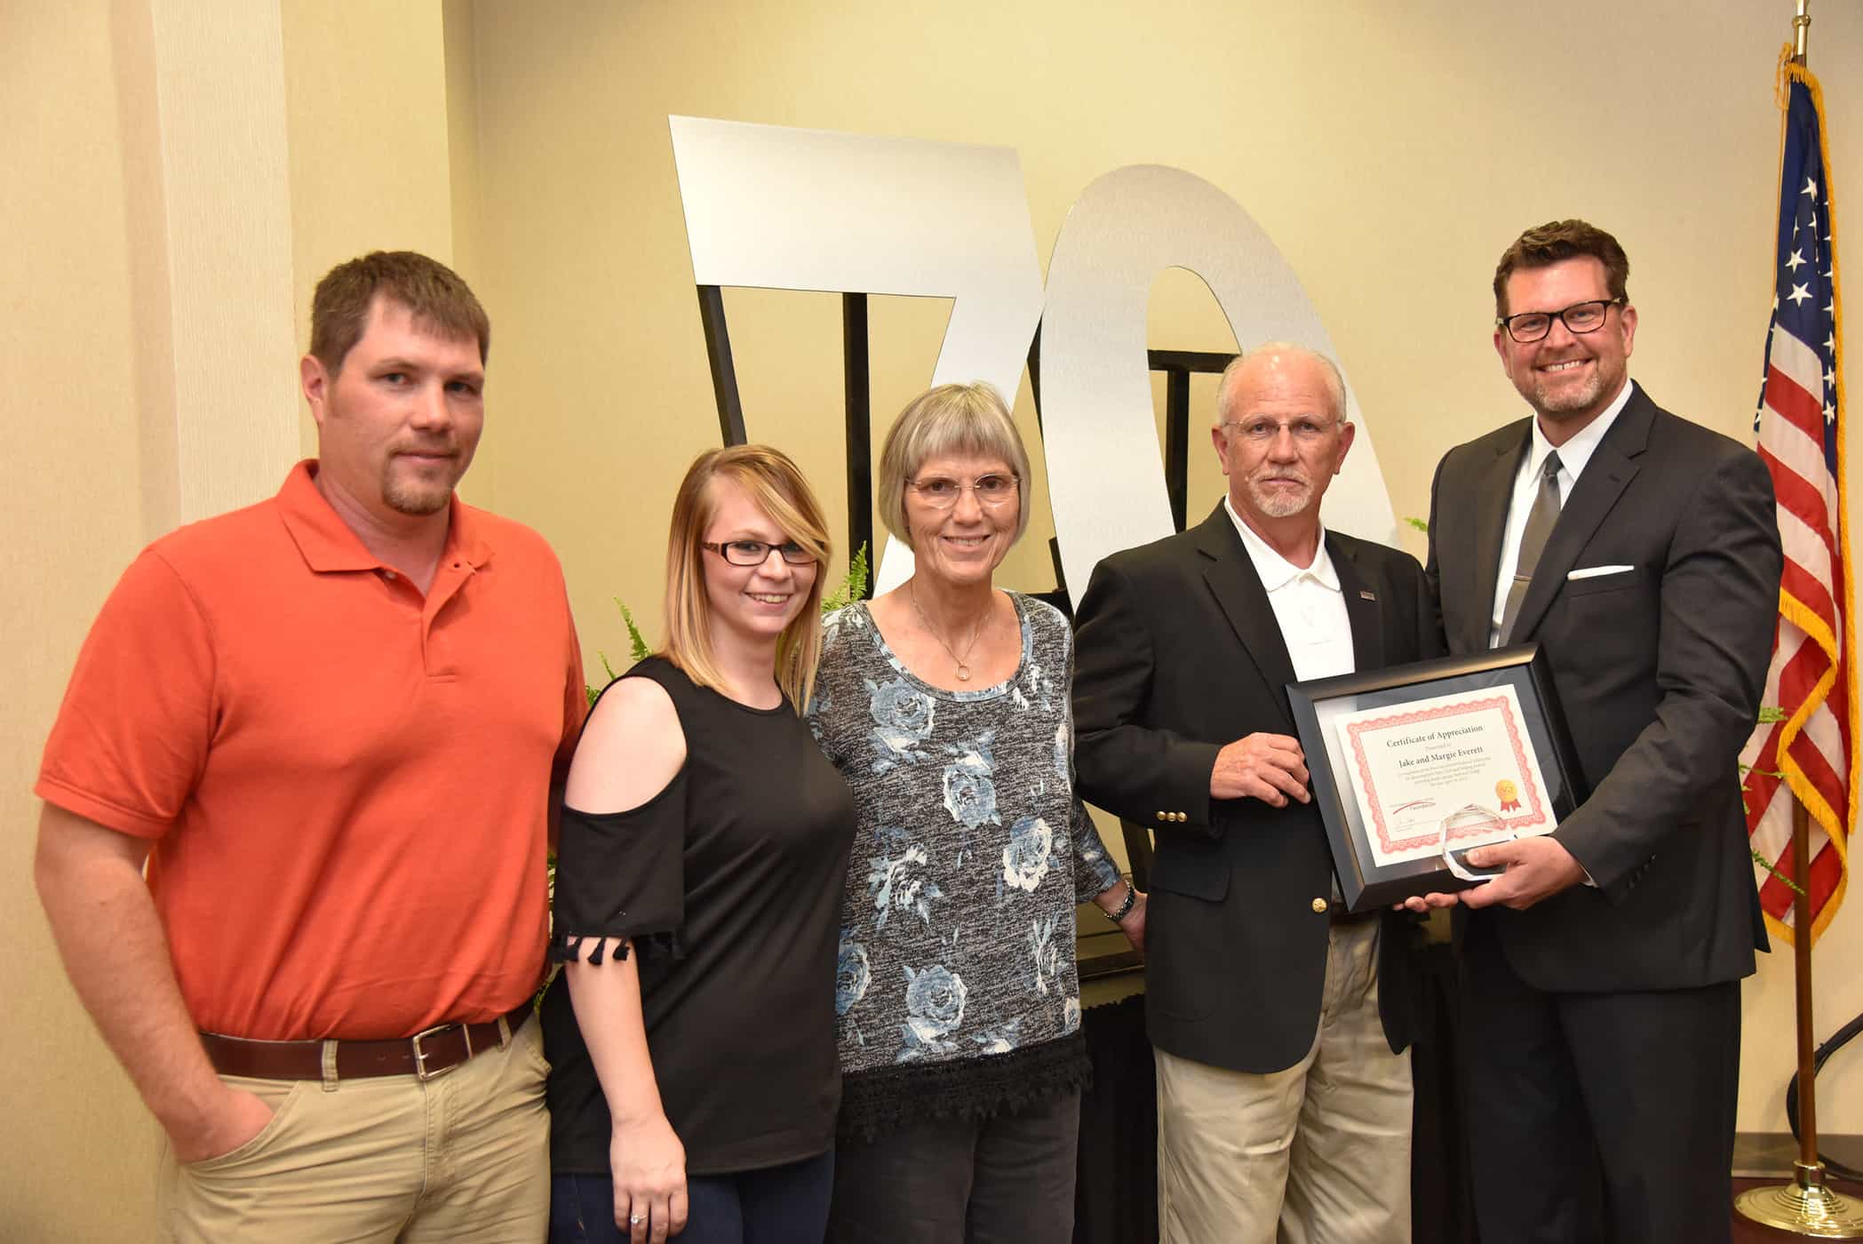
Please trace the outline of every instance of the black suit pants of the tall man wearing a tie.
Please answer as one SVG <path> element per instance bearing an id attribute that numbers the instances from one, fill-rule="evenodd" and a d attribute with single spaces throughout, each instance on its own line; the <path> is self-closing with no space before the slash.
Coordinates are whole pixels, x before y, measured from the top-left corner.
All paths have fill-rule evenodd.
<path id="1" fill-rule="evenodd" d="M 1492 913 L 1462 937 L 1462 1058 L 1481 1238 L 1727 1244 L 1740 983 L 1543 993 Z"/>

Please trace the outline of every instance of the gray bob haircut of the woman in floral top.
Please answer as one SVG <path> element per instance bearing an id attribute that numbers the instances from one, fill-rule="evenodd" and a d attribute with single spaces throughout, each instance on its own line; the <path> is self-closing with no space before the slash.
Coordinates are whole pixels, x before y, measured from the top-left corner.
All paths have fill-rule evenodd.
<path id="1" fill-rule="evenodd" d="M 1015 471 L 1015 538 L 1028 529 L 1028 451 L 1015 419 L 997 387 L 984 384 L 941 384 L 926 389 L 892 421 L 879 451 L 879 518 L 896 540 L 913 548 L 905 525 L 905 484 L 932 458 L 965 454 L 1002 458 Z M 969 480 L 965 480 L 969 482 Z"/>

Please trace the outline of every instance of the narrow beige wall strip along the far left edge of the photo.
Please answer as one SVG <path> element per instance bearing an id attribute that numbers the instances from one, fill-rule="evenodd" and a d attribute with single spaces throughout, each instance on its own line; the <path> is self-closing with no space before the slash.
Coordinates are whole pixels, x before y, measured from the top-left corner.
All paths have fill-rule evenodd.
<path id="1" fill-rule="evenodd" d="M 56 1238 L 86 1149 L 147 1171 L 129 1082 L 91 1035 L 32 898 L 30 795 L 39 745 L 63 693 L 76 637 L 142 536 L 136 328 L 130 317 L 129 205 L 102 6 L 0 9 L 6 128 L 0 237 L 19 263 L 0 264 L 0 408 L 11 447 L 6 525 L 4 750 L 0 750 L 0 994 L 22 1024 L 0 1127 L 0 1238 Z M 108 1140 L 104 1140 L 108 1138 Z M 116 1184 L 119 1175 L 104 1171 Z M 91 1188 L 97 1175 L 89 1175 Z M 123 1184 L 91 1201 L 91 1238 L 127 1238 L 143 1212 Z M 82 1235 L 82 1233 L 80 1233 Z"/>

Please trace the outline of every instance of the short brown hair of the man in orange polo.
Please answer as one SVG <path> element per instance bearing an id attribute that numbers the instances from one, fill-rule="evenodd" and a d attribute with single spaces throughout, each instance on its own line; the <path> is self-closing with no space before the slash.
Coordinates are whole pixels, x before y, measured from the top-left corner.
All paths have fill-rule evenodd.
<path id="1" fill-rule="evenodd" d="M 417 251 L 369 251 L 326 272 L 311 296 L 311 354 L 332 376 L 361 341 L 376 294 L 404 305 L 428 331 L 475 337 L 479 363 L 492 350 L 492 320 L 453 268 Z"/>

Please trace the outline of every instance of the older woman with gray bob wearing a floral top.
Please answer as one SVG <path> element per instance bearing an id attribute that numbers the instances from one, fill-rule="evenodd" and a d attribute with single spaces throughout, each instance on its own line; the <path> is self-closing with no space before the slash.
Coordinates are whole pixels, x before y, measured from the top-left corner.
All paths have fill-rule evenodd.
<path id="1" fill-rule="evenodd" d="M 898 588 L 829 616 L 810 723 L 853 788 L 831 1238 L 1073 1237 L 1086 1050 L 1073 909 L 1144 896 L 1073 795 L 1073 637 L 991 577 L 1028 454 L 989 385 L 913 400 L 881 454 Z"/>

